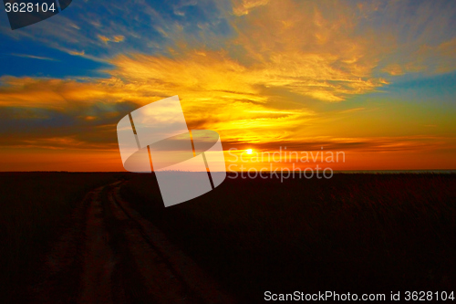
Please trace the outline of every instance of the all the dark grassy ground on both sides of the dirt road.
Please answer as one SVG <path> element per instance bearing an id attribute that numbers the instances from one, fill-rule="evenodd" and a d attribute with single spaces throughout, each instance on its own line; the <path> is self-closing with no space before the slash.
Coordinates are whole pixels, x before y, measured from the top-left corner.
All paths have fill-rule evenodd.
<path id="1" fill-rule="evenodd" d="M 78 202 L 117 180 L 123 200 L 242 303 L 262 302 L 266 290 L 456 291 L 454 174 L 227 178 L 164 208 L 153 174 L 0 173 L 2 299 L 33 302 L 30 286 L 76 225 Z M 128 285 L 136 278 L 126 273 Z M 78 293 L 78 278 L 67 284 Z"/>

